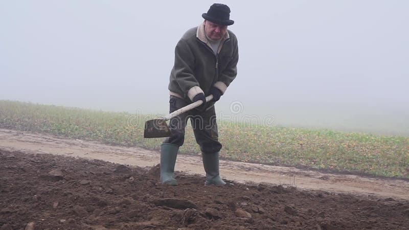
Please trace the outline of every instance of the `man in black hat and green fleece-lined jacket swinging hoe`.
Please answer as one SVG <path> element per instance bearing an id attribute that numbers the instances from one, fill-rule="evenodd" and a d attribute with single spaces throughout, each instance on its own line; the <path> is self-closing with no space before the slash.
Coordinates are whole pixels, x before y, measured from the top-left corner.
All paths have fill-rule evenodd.
<path id="1" fill-rule="evenodd" d="M 165 185 L 177 185 L 173 172 L 189 119 L 202 152 L 205 185 L 225 185 L 219 175 L 221 144 L 218 142 L 214 103 L 237 75 L 237 39 L 227 30 L 234 24 L 228 6 L 213 4 L 202 17 L 205 21 L 188 30 L 175 48 L 175 63 L 168 87 L 170 112 L 199 100 L 203 103 L 169 122 L 172 136 L 161 146 L 161 182 Z M 213 99 L 206 102 L 205 97 L 209 95 L 213 95 Z"/>

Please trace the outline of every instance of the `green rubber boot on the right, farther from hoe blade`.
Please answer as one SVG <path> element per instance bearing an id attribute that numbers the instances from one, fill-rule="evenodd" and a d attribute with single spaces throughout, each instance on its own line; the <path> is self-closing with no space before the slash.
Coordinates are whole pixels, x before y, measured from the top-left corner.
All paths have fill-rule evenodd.
<path id="1" fill-rule="evenodd" d="M 219 152 L 215 153 L 203 153 L 203 166 L 206 171 L 205 185 L 224 186 L 224 182 L 219 175 Z"/>

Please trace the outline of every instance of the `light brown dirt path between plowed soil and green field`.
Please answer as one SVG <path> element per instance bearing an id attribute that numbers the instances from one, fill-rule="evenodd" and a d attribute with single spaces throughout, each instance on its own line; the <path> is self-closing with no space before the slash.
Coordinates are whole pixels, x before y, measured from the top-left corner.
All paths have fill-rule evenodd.
<path id="1" fill-rule="evenodd" d="M 97 142 L 60 139 L 42 133 L 8 129 L 0 129 L 0 149 L 101 159 L 107 162 L 140 167 L 154 166 L 159 162 L 158 152 L 138 147 L 108 146 Z M 204 175 L 201 158 L 197 156 L 178 155 L 175 170 L 188 174 Z M 228 180 L 243 183 L 285 184 L 307 190 L 409 199 L 409 182 L 404 180 L 335 175 L 225 160 L 220 160 L 220 174 Z"/>

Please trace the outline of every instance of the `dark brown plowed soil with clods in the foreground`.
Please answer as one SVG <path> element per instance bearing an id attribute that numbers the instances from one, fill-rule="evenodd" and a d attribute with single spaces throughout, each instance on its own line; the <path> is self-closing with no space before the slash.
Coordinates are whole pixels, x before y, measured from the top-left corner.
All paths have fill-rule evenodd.
<path id="1" fill-rule="evenodd" d="M 1 229 L 404 229 L 409 201 L 234 183 L 158 167 L 0 150 Z"/>

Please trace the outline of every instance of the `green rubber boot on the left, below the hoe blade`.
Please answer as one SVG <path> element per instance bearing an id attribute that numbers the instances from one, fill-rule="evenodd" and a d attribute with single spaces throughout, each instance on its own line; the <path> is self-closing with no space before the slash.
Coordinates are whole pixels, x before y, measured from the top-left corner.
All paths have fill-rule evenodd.
<path id="1" fill-rule="evenodd" d="M 174 144 L 161 145 L 161 182 L 163 185 L 177 186 L 173 172 L 178 150 L 179 146 Z"/>

